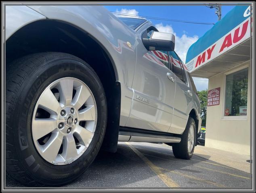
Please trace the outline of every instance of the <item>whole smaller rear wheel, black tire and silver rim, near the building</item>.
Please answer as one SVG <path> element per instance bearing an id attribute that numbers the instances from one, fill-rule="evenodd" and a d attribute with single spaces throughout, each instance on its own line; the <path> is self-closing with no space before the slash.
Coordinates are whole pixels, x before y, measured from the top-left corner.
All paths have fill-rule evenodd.
<path id="1" fill-rule="evenodd" d="M 176 158 L 189 160 L 193 156 L 196 142 L 195 120 L 189 117 L 186 129 L 178 144 L 172 145 L 172 152 Z"/>

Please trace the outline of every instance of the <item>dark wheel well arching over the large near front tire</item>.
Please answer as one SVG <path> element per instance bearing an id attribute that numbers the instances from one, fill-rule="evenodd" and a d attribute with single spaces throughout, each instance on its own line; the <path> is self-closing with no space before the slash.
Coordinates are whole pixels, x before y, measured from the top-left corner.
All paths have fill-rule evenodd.
<path id="1" fill-rule="evenodd" d="M 103 146 L 105 150 L 113 152 L 118 141 L 121 104 L 121 88 L 116 82 L 113 60 L 90 34 L 70 24 L 46 19 L 22 27 L 6 41 L 6 69 L 10 62 L 19 57 L 49 51 L 75 55 L 87 62 L 99 76 L 108 105 Z"/>

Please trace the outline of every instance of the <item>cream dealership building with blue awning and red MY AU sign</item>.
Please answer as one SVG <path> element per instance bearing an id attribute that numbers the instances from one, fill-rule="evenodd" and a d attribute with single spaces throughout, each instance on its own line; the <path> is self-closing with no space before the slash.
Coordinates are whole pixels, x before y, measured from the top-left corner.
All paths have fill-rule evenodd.
<path id="1" fill-rule="evenodd" d="M 251 7 L 235 6 L 187 52 L 193 77 L 208 78 L 205 146 L 250 155 Z"/>

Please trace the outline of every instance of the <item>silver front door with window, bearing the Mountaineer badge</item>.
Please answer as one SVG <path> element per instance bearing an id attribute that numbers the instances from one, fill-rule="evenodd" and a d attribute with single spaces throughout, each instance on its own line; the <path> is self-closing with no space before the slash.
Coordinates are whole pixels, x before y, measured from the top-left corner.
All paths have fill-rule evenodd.
<path id="1" fill-rule="evenodd" d="M 150 37 L 153 31 L 157 30 L 149 27 L 137 31 L 134 96 L 126 126 L 168 132 L 173 115 L 175 75 L 169 69 L 168 52 L 148 51 L 143 45 L 142 37 Z"/>

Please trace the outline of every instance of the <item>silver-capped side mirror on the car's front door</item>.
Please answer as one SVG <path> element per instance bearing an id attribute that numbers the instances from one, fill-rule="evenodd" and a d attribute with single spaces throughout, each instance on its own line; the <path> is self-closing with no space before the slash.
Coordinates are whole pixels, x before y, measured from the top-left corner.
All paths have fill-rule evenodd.
<path id="1" fill-rule="evenodd" d="M 147 50 L 174 51 L 175 36 L 172 33 L 153 31 L 150 38 L 142 38 Z"/>

